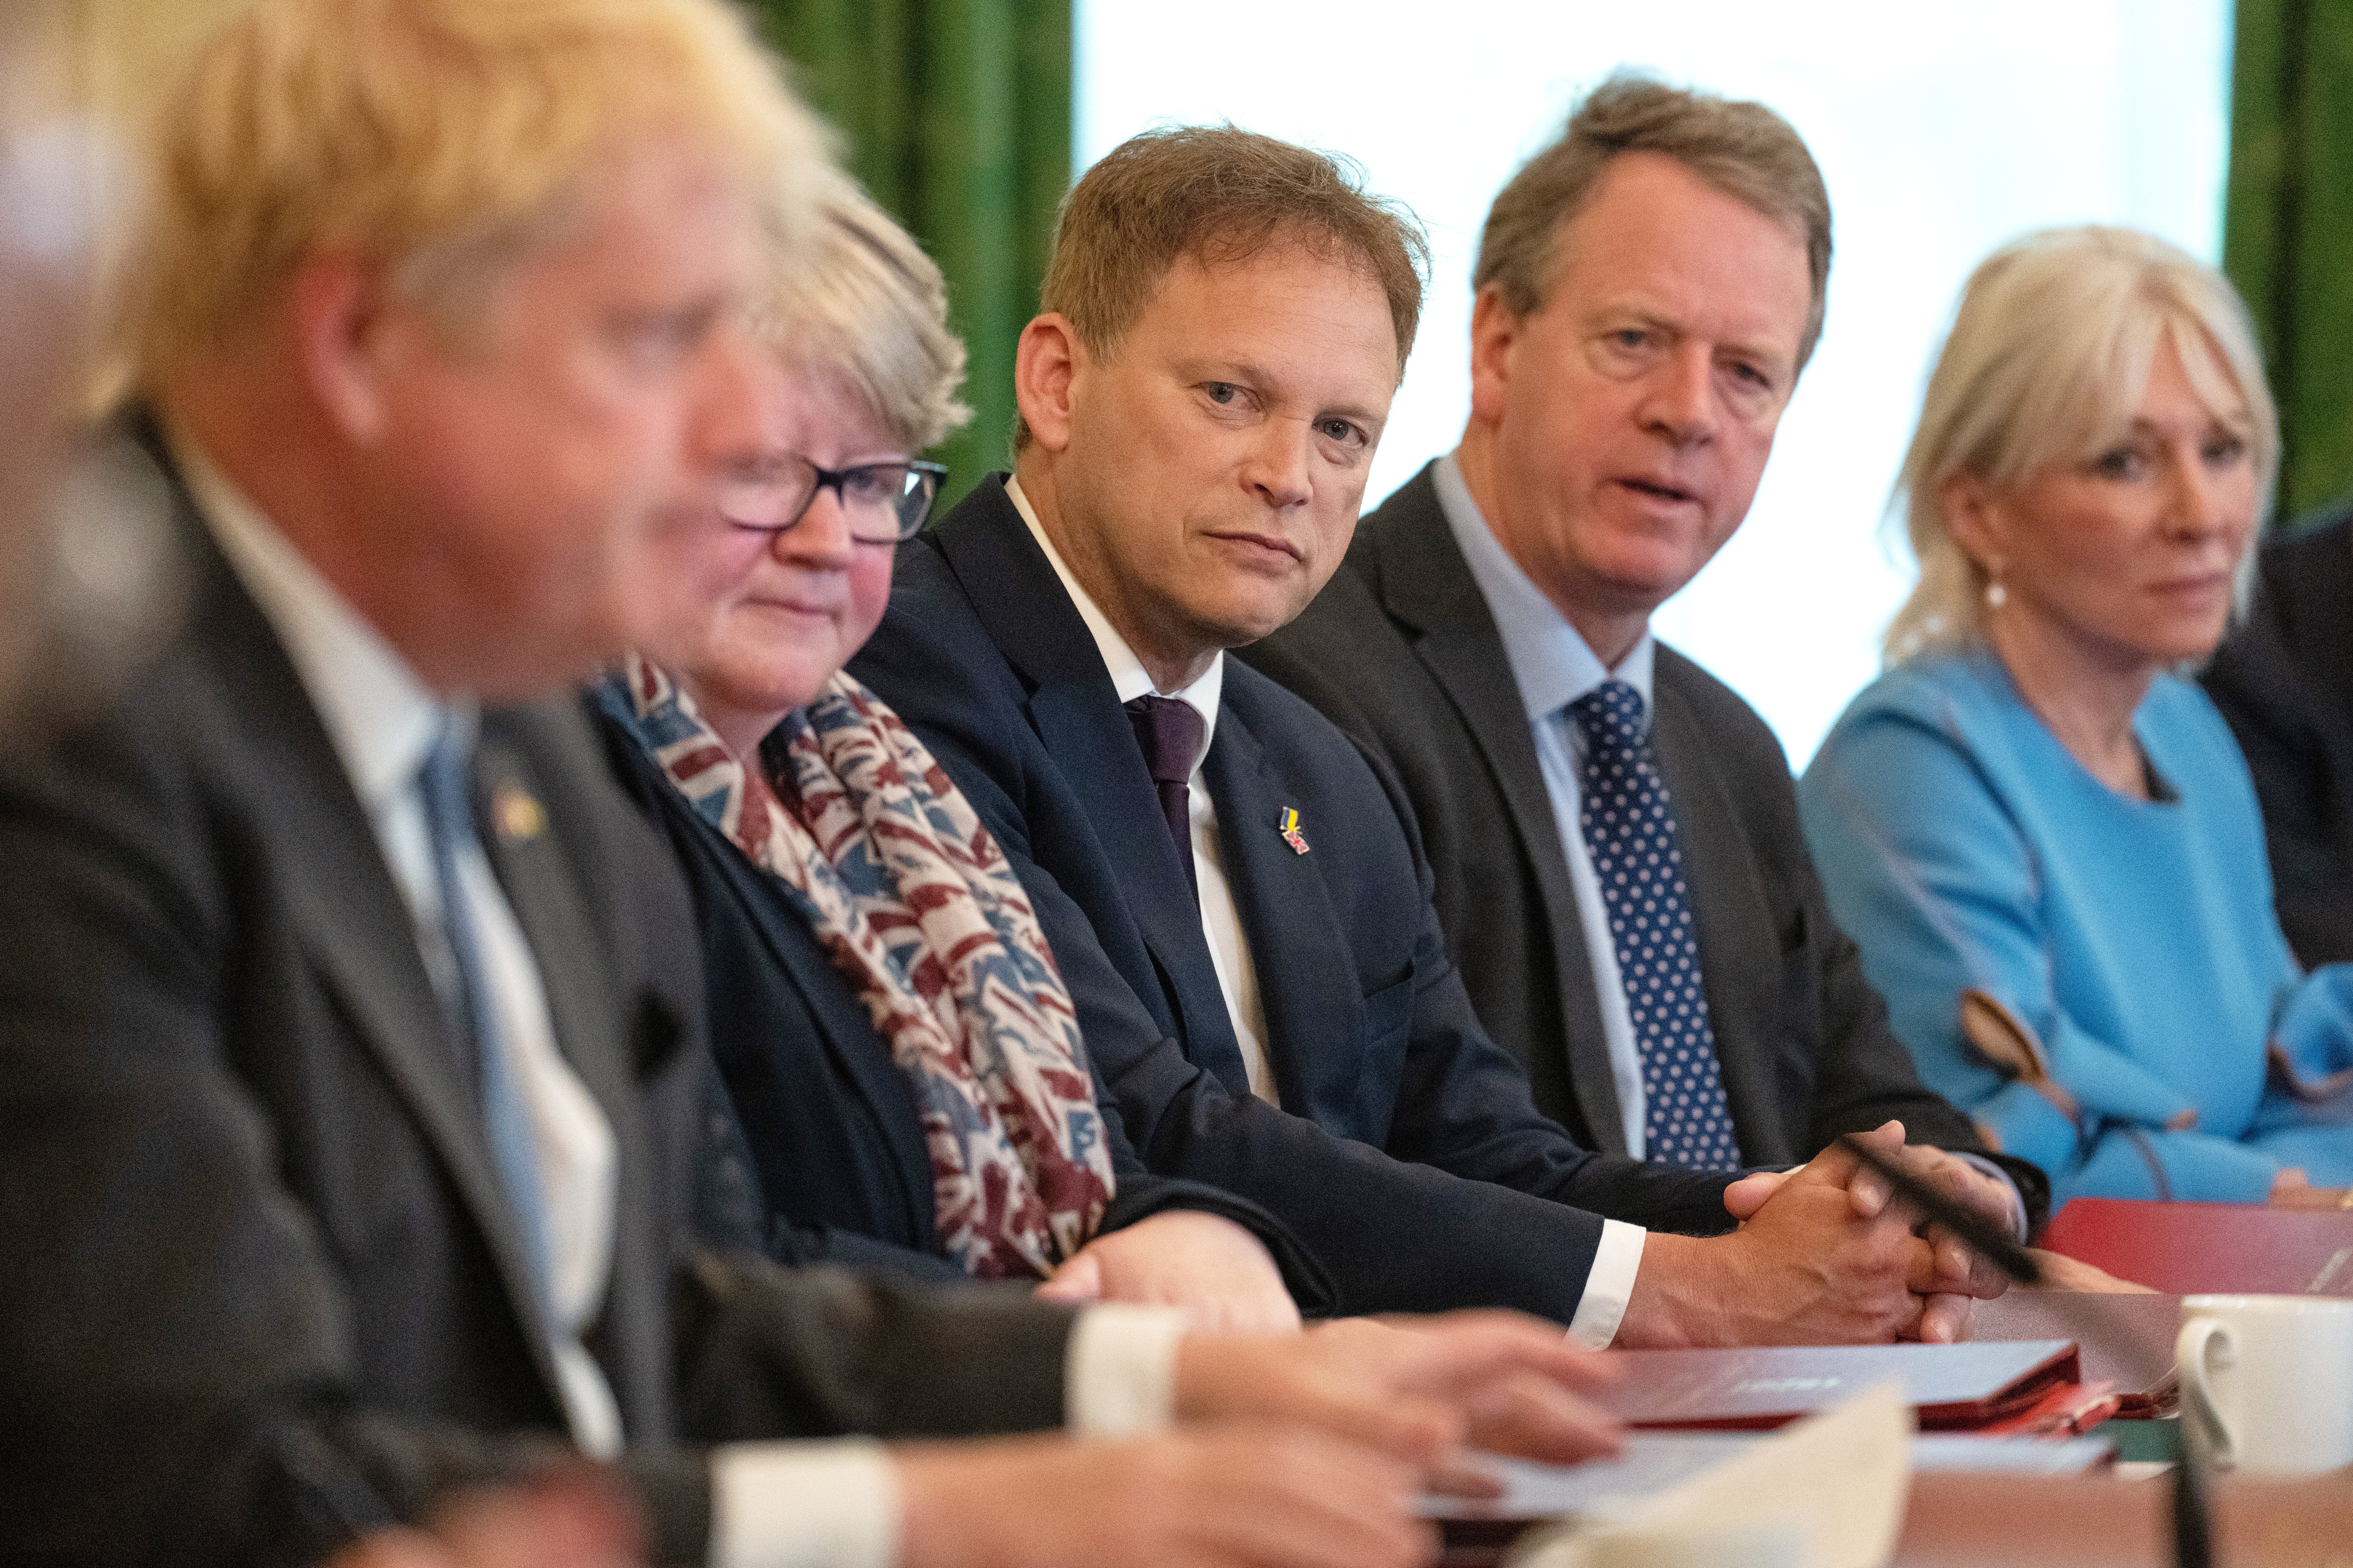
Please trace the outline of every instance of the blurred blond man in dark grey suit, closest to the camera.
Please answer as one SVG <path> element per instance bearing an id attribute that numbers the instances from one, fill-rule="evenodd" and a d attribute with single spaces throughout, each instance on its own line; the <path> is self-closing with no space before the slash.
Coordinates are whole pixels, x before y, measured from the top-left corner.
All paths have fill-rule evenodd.
<path id="1" fill-rule="evenodd" d="M 741 21 L 259 0 L 165 125 L 111 461 L 184 616 L 0 762 L 0 1559 L 306 1563 L 567 1455 L 659 1563 L 1421 1554 L 1424 1394 L 1569 1375 L 1551 1335 L 1214 1340 L 687 1234 L 692 912 L 527 698 L 760 548 L 736 303 L 819 136 Z M 755 1441 L 1179 1415 L 1362 1441 Z"/>

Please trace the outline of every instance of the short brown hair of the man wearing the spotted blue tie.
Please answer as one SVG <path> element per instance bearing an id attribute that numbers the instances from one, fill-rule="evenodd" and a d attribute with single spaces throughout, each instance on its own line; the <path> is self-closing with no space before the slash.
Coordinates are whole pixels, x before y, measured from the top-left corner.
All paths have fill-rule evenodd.
<path id="1" fill-rule="evenodd" d="M 1534 315 L 1560 270 L 1560 235 L 1619 153 L 1659 153 L 1737 202 L 1805 235 L 1814 306 L 1798 367 L 1814 355 L 1831 289 L 1831 193 L 1788 120 L 1762 103 L 1612 75 L 1569 113 L 1560 141 L 1529 158 L 1487 209 L 1473 289 L 1489 284 L 1513 315 Z"/>

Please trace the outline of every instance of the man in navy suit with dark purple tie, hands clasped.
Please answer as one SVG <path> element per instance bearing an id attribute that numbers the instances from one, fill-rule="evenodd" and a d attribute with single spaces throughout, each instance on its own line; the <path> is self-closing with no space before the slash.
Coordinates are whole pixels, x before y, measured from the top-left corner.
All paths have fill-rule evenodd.
<path id="1" fill-rule="evenodd" d="M 1021 339 L 1016 473 L 901 555 L 852 670 L 1026 877 L 1144 1159 L 1273 1208 L 1344 1307 L 1511 1305 L 1595 1345 L 1918 1333 L 1927 1295 L 1998 1284 L 1849 1190 L 1849 1157 L 1734 1182 L 1544 1119 L 1447 959 L 1395 783 L 1224 658 L 1339 567 L 1417 252 L 1280 141 L 1111 153 Z"/>

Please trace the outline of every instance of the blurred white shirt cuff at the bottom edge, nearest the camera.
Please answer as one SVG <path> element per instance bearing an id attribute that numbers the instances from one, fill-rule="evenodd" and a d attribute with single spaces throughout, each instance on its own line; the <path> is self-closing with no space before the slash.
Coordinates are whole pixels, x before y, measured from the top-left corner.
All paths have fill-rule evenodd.
<path id="1" fill-rule="evenodd" d="M 711 1568 L 892 1568 L 899 1472 L 873 1439 L 711 1453 Z"/>

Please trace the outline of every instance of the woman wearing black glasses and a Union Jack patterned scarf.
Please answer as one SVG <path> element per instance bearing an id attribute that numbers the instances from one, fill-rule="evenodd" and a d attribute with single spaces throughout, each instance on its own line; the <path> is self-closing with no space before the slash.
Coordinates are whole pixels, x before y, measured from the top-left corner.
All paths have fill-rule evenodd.
<path id="1" fill-rule="evenodd" d="M 1297 1324 L 1315 1265 L 1254 1206 L 1144 1171 L 1005 856 L 842 675 L 944 475 L 913 454 L 967 418 L 939 270 L 842 183 L 760 329 L 769 458 L 725 512 L 762 552 L 701 654 L 631 658 L 595 693 L 696 896 L 734 1112 L 715 1105 L 713 1128 L 741 1128 L 704 1173 L 706 1211 L 734 1208 L 732 1229 L 748 1218 L 791 1262 Z"/>

